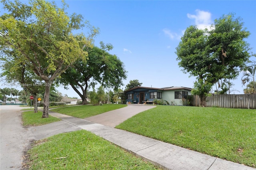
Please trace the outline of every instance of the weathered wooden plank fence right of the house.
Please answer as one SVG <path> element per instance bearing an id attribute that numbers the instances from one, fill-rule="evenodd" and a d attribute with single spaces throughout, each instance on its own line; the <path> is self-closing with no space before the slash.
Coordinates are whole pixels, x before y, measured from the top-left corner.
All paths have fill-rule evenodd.
<path id="1" fill-rule="evenodd" d="M 200 97 L 192 96 L 192 106 L 200 105 Z M 212 95 L 206 97 L 206 107 L 226 107 L 239 109 L 256 109 L 256 94 L 250 95 Z"/>

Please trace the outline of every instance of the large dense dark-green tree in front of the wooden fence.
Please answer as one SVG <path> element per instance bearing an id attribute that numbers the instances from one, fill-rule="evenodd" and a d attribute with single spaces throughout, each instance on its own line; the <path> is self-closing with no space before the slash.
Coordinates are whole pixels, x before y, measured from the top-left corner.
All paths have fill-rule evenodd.
<path id="1" fill-rule="evenodd" d="M 192 93 L 200 96 L 202 106 L 212 85 L 220 79 L 235 79 L 250 56 L 244 40 L 250 32 L 241 21 L 229 14 L 214 20 L 210 30 L 190 26 L 176 47 L 178 65 L 197 79 Z"/>

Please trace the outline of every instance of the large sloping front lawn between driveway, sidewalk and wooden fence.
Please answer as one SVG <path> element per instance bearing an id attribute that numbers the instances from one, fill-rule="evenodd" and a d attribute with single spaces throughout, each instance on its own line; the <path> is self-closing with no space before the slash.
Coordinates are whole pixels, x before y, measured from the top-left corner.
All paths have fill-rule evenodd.
<path id="1" fill-rule="evenodd" d="M 160 106 L 116 128 L 255 168 L 256 110 Z"/>

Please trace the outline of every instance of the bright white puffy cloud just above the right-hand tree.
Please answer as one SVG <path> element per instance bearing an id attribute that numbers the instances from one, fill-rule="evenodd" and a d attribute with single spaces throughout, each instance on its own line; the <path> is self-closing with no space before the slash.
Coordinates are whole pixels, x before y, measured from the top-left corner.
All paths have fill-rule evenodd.
<path id="1" fill-rule="evenodd" d="M 210 26 L 212 24 L 212 14 L 210 12 L 196 10 L 196 15 L 187 14 L 187 16 L 188 18 L 195 20 L 195 24 L 198 26 L 199 29 L 210 29 Z"/>

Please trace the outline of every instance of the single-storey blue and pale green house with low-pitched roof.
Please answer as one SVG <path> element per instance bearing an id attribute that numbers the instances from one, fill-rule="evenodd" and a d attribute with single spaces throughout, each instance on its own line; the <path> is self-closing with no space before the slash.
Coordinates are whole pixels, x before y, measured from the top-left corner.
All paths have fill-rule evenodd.
<path id="1" fill-rule="evenodd" d="M 191 88 L 188 87 L 134 87 L 124 91 L 126 93 L 126 102 L 130 103 L 153 103 L 155 99 L 164 100 L 170 105 L 182 105 L 182 98 L 188 99 L 191 95 Z"/>

